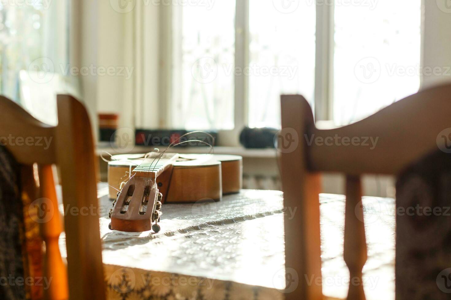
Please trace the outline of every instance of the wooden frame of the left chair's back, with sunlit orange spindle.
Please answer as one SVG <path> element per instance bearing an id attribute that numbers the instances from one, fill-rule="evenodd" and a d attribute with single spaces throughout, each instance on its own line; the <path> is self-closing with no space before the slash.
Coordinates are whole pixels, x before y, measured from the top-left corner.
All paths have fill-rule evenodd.
<path id="1" fill-rule="evenodd" d="M 40 253 L 28 255 L 34 265 L 42 266 L 51 284 L 45 291 L 34 287 L 32 298 L 105 299 L 99 216 L 97 202 L 97 166 L 91 125 L 83 105 L 69 95 L 57 96 L 58 125 L 37 121 L 22 107 L 0 96 L 0 137 L 22 166 L 22 198 L 29 202 L 31 219 L 40 224 Z M 58 240 L 63 222 L 56 199 L 52 165 L 59 166 L 64 207 L 67 270 L 61 258 Z M 37 170 L 37 172 L 36 172 Z M 34 210 L 34 208 L 37 210 Z M 79 213 L 70 213 L 75 207 Z M 80 213 L 87 208 L 89 213 Z M 25 207 L 27 210 L 27 207 Z M 34 213 L 35 212 L 35 213 Z M 33 242 L 36 242 L 33 241 Z M 28 249 L 28 245 L 27 245 Z M 36 250 L 36 247 L 35 247 Z M 34 259 L 33 259 L 34 257 Z M 42 295 L 43 294 L 43 295 Z"/>

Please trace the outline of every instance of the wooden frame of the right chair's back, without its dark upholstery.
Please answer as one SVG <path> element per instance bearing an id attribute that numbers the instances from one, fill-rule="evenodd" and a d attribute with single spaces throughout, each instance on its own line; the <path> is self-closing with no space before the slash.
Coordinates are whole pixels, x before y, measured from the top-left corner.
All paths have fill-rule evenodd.
<path id="1" fill-rule="evenodd" d="M 421 91 L 362 121 L 332 130 L 315 127 L 310 106 L 300 95 L 281 96 L 281 114 L 284 205 L 299 208 L 295 218 L 285 217 L 285 267 L 287 273 L 294 269 L 299 277 L 298 287 L 286 294 L 286 299 L 322 299 L 321 285 L 308 285 L 304 280 L 304 276 L 321 278 L 320 173 L 346 176 L 344 260 L 351 278 L 361 278 L 367 245 L 364 223 L 359 220 L 363 219 L 362 207 L 358 206 L 362 197 L 360 178 L 367 173 L 399 175 L 410 163 L 443 146 L 445 140 L 437 139 L 437 135 L 451 127 L 451 85 Z M 307 143 L 312 137 L 324 141 L 335 135 L 379 139 L 373 150 Z M 365 299 L 363 286 L 350 285 L 347 299 Z"/>

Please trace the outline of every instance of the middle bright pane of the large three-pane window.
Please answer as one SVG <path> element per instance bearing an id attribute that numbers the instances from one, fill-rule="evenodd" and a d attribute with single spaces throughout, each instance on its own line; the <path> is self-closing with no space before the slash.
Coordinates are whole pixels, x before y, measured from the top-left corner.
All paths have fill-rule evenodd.
<path id="1" fill-rule="evenodd" d="M 281 94 L 302 94 L 313 105 L 315 10 L 308 1 L 292 13 L 249 1 L 249 127 L 280 127 Z"/>

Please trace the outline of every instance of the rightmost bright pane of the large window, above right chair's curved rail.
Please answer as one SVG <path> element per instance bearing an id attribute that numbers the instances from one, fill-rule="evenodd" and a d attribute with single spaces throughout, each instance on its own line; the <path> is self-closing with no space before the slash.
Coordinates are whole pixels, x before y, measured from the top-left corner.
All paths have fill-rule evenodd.
<path id="1" fill-rule="evenodd" d="M 337 4 L 334 121 L 358 121 L 416 93 L 420 49 L 421 0 L 379 0 L 374 7 Z"/>

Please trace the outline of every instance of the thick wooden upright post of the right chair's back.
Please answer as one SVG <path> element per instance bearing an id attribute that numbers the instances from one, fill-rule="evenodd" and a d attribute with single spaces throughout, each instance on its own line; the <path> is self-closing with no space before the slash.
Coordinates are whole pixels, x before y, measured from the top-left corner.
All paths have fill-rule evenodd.
<path id="1" fill-rule="evenodd" d="M 319 193 L 321 178 L 306 170 L 306 145 L 299 133 L 313 125 L 313 114 L 302 96 L 282 96 L 282 130 L 278 136 L 281 154 L 281 178 L 285 208 L 299 208 L 295 217 L 285 214 L 286 300 L 320 300 L 321 239 L 319 225 Z M 299 116 L 303 116 L 301 119 Z M 289 279 L 294 282 L 289 282 Z M 306 280 L 306 278 L 308 280 Z M 297 281 L 296 281 L 297 280 Z M 309 284 L 313 280 L 315 283 Z"/>

